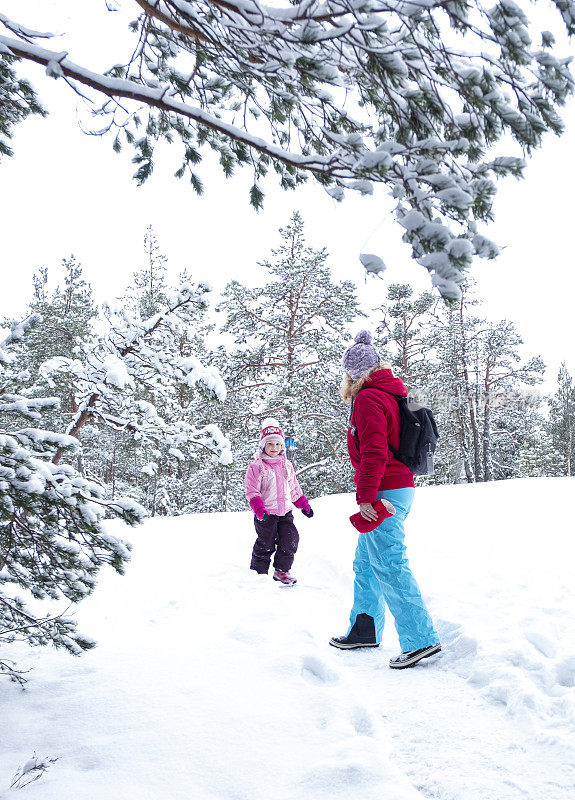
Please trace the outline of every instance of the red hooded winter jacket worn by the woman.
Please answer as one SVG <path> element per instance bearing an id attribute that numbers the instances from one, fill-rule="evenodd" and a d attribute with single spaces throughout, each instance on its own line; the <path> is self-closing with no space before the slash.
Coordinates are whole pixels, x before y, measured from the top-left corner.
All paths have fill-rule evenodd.
<path id="1" fill-rule="evenodd" d="M 391 392 L 391 394 L 389 394 Z M 382 489 L 414 486 L 413 473 L 389 449 L 399 447 L 400 416 L 392 394 L 407 397 L 403 381 L 390 369 L 373 372 L 353 403 L 347 450 L 355 469 L 358 503 L 374 503 Z"/>

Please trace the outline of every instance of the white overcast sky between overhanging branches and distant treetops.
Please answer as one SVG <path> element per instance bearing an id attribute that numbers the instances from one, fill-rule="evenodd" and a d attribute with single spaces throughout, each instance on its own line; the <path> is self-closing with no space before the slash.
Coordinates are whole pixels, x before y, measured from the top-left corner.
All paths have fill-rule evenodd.
<path id="1" fill-rule="evenodd" d="M 130 0 L 120 6 L 120 14 L 110 15 L 104 0 L 2 3 L 4 13 L 22 24 L 65 31 L 53 49 L 68 50 L 71 60 L 92 69 L 126 58 L 122 17 L 135 16 L 137 7 Z M 575 43 L 571 49 L 575 53 Z M 131 180 L 128 151 L 118 156 L 111 137 L 82 133 L 78 98 L 63 81 L 46 78 L 40 66 L 25 70 L 50 116 L 19 125 L 14 156 L 0 161 L 0 315 L 18 316 L 30 297 L 33 273 L 40 266 L 55 270 L 71 253 L 82 262 L 96 300 L 113 299 L 142 265 L 150 223 L 174 279 L 187 267 L 216 290 L 234 278 L 257 285 L 264 276 L 256 262 L 269 256 L 278 244 L 278 227 L 296 209 L 304 216 L 309 243 L 328 249 L 334 274 L 358 284 L 366 308 L 383 302 L 390 282 L 410 283 L 416 291 L 429 287 L 426 271 L 411 261 L 409 247 L 401 242 L 384 191 L 366 198 L 350 192 L 338 204 L 312 182 L 282 192 L 270 173 L 263 185 L 264 210 L 255 213 L 248 202 L 247 171 L 225 180 L 206 161 L 198 169 L 205 194 L 198 197 L 185 179 L 173 177 L 177 155 L 165 147 L 153 177 L 138 187 Z M 85 112 L 81 116 L 85 119 Z M 485 313 L 516 324 L 525 355 L 541 354 L 547 363 L 549 388 L 561 361 L 575 372 L 574 102 L 564 119 L 565 134 L 546 137 L 525 180 L 500 182 L 496 221 L 484 230 L 505 250 L 496 261 L 478 260 L 473 268 Z M 383 258 L 384 281 L 365 283 L 361 252 Z"/>

